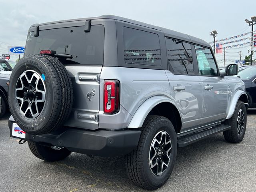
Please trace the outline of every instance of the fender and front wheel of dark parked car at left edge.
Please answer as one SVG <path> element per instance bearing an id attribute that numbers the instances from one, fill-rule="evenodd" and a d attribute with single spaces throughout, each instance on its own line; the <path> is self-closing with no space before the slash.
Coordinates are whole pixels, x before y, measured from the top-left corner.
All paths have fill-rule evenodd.
<path id="1" fill-rule="evenodd" d="M 0 71 L 0 118 L 8 109 L 7 91 L 10 75 L 10 71 Z"/>

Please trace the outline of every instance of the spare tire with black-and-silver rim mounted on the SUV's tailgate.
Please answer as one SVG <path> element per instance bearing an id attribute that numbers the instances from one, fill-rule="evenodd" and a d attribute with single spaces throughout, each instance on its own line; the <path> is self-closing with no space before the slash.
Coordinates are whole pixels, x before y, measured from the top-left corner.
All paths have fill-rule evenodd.
<path id="1" fill-rule="evenodd" d="M 10 76 L 8 102 L 15 122 L 30 134 L 60 128 L 70 115 L 73 89 L 63 64 L 47 55 L 28 55 Z"/>

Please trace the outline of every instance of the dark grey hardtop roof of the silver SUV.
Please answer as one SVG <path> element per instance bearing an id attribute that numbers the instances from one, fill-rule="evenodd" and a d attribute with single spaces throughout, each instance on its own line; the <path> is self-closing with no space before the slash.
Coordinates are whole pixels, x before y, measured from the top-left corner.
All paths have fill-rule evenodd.
<path id="1" fill-rule="evenodd" d="M 162 32 L 164 32 L 165 36 L 169 36 L 169 37 L 172 37 L 172 38 L 177 38 L 177 39 L 184 40 L 184 41 L 187 41 L 187 42 L 192 42 L 194 44 L 200 44 L 202 46 L 206 46 L 206 47 L 209 47 L 209 48 L 211 47 L 206 41 L 204 41 L 200 38 L 196 38 L 194 36 L 190 36 L 190 35 L 187 35 L 187 34 L 184 34 L 184 33 L 181 33 L 181 32 L 177 32 L 177 31 L 174 31 L 174 30 L 170 30 L 170 29 L 150 25 L 150 24 L 147 24 L 147 23 L 143 23 L 143 22 L 139 22 L 139 21 L 136 21 L 136 20 L 132 20 L 132 19 L 124 18 L 124 17 L 119 17 L 119 16 L 115 16 L 115 15 L 102 15 L 102 16 L 99 16 L 99 17 L 60 20 L 60 21 L 47 22 L 47 23 L 42 23 L 42 24 L 33 24 L 30 27 L 42 26 L 42 25 L 48 25 L 48 24 L 55 24 L 55 23 L 63 23 L 63 22 L 94 20 L 94 19 L 114 19 L 114 20 L 129 22 L 131 24 L 136 24 L 136 25 L 140 25 L 140 26 L 144 26 L 144 27 L 148 27 L 148 28 L 152 28 L 152 29 L 162 31 Z"/>

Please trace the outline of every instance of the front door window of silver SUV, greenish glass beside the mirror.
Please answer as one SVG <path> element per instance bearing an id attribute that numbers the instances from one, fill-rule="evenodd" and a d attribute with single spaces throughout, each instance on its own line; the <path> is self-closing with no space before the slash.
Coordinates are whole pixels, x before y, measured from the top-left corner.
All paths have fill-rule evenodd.
<path id="1" fill-rule="evenodd" d="M 200 75 L 218 76 L 217 66 L 212 52 L 208 48 L 195 45 L 198 69 Z"/>

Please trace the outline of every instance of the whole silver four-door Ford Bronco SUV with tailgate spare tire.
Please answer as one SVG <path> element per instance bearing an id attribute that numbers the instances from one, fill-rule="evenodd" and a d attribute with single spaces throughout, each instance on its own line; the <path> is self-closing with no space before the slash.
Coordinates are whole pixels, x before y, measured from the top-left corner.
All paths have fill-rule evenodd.
<path id="1" fill-rule="evenodd" d="M 237 70 L 220 73 L 201 39 L 126 18 L 34 24 L 10 77 L 10 136 L 45 161 L 125 155 L 132 182 L 153 190 L 177 147 L 220 132 L 242 141 L 248 97 Z"/>

